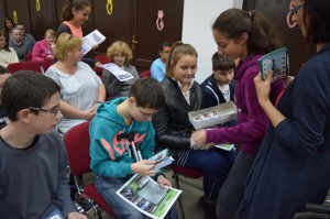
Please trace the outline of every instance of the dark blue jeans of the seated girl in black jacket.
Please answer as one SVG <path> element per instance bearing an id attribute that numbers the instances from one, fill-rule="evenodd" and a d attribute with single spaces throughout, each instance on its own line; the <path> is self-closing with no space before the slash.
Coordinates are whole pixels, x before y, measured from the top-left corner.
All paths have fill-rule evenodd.
<path id="1" fill-rule="evenodd" d="M 220 149 L 209 151 L 190 150 L 184 166 L 205 173 L 205 196 L 210 200 L 217 200 L 219 190 L 235 160 L 235 155 L 237 151 L 227 152 Z M 176 163 L 174 162 L 174 164 Z"/>

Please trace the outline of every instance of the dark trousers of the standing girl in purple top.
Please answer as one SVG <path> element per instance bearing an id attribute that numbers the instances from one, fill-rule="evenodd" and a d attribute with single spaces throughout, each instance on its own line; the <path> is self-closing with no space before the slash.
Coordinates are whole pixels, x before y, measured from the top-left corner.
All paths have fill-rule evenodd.
<path id="1" fill-rule="evenodd" d="M 218 198 L 218 218 L 232 219 L 244 194 L 244 183 L 253 164 L 254 156 L 239 152 Z"/>

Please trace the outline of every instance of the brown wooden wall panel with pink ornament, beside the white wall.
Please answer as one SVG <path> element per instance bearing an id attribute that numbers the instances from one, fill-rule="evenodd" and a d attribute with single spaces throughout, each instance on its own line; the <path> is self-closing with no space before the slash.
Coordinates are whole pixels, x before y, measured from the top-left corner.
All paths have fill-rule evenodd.
<path id="1" fill-rule="evenodd" d="M 135 66 L 148 69 L 162 42 L 182 39 L 184 0 L 138 0 Z"/>

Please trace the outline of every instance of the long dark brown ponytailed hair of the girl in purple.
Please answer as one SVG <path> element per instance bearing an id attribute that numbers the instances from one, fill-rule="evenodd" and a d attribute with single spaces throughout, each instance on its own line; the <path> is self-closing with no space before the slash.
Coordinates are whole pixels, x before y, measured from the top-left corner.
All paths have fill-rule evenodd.
<path id="1" fill-rule="evenodd" d="M 275 25 L 257 10 L 229 9 L 222 12 L 212 25 L 228 39 L 238 40 L 242 33 L 249 35 L 248 53 L 270 53 L 283 46 Z"/>

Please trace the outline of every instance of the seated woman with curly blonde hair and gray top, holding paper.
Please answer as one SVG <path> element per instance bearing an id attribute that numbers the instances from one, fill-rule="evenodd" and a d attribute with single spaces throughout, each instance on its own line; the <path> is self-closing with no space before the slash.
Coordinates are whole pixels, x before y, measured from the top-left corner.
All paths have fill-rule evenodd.
<path id="1" fill-rule="evenodd" d="M 112 63 L 123 70 L 129 72 L 134 77 L 127 81 L 120 81 L 112 73 L 105 69 L 102 76 L 108 100 L 112 100 L 118 97 L 128 97 L 131 86 L 140 78 L 136 68 L 130 65 L 130 61 L 133 57 L 132 50 L 127 43 L 117 41 L 108 47 L 107 55 Z"/>

